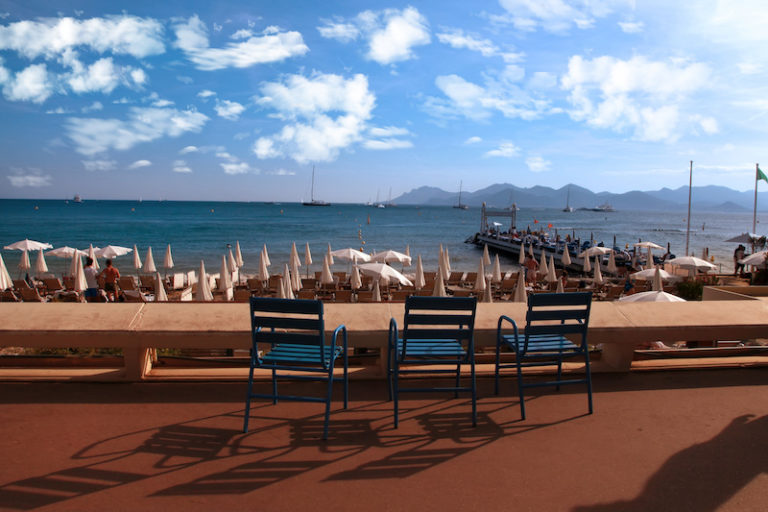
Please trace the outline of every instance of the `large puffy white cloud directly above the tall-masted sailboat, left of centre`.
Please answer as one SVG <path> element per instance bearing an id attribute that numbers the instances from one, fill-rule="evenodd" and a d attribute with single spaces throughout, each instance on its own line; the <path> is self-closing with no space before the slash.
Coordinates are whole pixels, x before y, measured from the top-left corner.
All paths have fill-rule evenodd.
<path id="1" fill-rule="evenodd" d="M 279 133 L 258 138 L 254 153 L 260 159 L 289 157 L 299 163 L 334 160 L 339 151 L 361 141 L 376 102 L 368 79 L 360 74 L 349 79 L 289 75 L 283 82 L 265 83 L 261 93 L 256 103 L 289 122 Z"/>

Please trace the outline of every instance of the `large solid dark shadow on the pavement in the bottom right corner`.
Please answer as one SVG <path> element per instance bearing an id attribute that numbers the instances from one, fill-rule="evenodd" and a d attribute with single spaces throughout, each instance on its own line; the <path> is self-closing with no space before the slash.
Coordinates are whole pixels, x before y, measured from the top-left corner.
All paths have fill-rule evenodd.
<path id="1" fill-rule="evenodd" d="M 768 415 L 734 418 L 709 441 L 674 454 L 628 501 L 574 507 L 574 512 L 718 510 L 754 478 L 768 473 Z"/>

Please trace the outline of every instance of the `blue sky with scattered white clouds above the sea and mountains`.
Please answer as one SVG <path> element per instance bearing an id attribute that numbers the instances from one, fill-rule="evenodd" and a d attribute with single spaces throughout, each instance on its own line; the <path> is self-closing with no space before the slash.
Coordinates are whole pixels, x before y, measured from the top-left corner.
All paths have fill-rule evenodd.
<path id="1" fill-rule="evenodd" d="M 0 0 L 0 197 L 754 187 L 764 0 Z M 761 160 L 762 159 L 762 160 Z"/>

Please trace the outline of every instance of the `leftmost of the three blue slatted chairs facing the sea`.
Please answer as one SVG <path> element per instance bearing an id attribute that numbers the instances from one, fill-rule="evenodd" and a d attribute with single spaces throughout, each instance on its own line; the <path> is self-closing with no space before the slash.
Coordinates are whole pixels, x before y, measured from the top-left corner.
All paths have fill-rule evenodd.
<path id="1" fill-rule="evenodd" d="M 248 432 L 248 419 L 252 398 L 271 398 L 276 404 L 279 399 L 303 402 L 325 402 L 325 423 L 323 439 L 328 438 L 328 418 L 331 412 L 331 393 L 334 381 L 344 382 L 344 408 L 348 402 L 347 328 L 340 325 L 333 331 L 331 345 L 325 343 L 323 303 L 319 300 L 293 300 L 251 297 L 251 368 L 248 374 L 248 397 L 245 401 L 243 432 Z M 337 344 L 339 333 L 341 345 Z M 263 356 L 259 355 L 259 344 L 269 344 Z M 344 363 L 344 376 L 334 377 L 336 359 Z M 253 370 L 272 370 L 272 393 L 253 392 Z M 294 372 L 281 374 L 279 372 Z M 307 372 L 317 375 L 301 375 Z M 312 396 L 279 395 L 277 379 L 317 380 L 327 382 L 325 398 Z"/>

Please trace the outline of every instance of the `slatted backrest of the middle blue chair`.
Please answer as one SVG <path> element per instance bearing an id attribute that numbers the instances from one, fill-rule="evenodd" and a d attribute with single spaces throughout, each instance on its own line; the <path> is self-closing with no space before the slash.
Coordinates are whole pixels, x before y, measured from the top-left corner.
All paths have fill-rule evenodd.
<path id="1" fill-rule="evenodd" d="M 475 297 L 420 297 L 405 299 L 404 357 L 408 344 L 458 341 L 474 351 Z"/>

